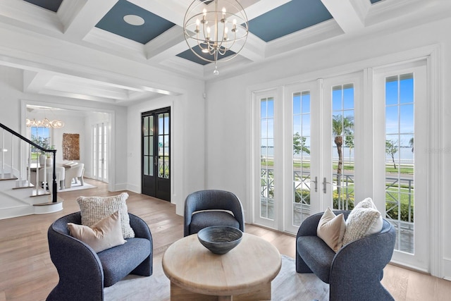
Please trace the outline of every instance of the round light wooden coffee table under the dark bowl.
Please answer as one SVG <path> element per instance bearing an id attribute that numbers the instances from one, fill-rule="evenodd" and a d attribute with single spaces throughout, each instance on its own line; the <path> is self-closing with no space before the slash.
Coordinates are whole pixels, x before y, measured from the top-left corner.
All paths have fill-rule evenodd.
<path id="1" fill-rule="evenodd" d="M 162 264 L 171 300 L 271 300 L 271 281 L 282 262 L 271 243 L 243 233 L 240 244 L 223 255 L 207 250 L 197 234 L 187 236 L 168 247 Z"/>

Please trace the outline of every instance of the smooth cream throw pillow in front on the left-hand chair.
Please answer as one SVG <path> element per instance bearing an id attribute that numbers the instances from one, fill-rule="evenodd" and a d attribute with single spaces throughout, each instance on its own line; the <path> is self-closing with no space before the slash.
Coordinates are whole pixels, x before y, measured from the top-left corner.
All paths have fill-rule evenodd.
<path id="1" fill-rule="evenodd" d="M 71 236 L 85 242 L 96 253 L 126 242 L 122 235 L 121 216 L 118 211 L 101 219 L 92 227 L 68 223 L 68 229 Z"/>

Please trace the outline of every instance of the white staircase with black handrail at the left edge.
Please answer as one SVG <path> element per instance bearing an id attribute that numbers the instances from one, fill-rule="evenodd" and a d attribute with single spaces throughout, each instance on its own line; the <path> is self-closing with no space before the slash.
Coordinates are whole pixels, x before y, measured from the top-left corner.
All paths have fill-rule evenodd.
<path id="1" fill-rule="evenodd" d="M 34 168 L 39 174 L 40 168 L 38 162 L 30 159 L 31 148 L 53 154 L 53 166 L 56 150 L 44 149 L 1 123 L 0 131 L 0 219 L 61 211 L 63 200 L 57 196 L 55 170 L 53 181 L 38 176 L 33 179 L 35 183 L 48 181 L 54 193 L 31 184 L 31 170 Z"/>

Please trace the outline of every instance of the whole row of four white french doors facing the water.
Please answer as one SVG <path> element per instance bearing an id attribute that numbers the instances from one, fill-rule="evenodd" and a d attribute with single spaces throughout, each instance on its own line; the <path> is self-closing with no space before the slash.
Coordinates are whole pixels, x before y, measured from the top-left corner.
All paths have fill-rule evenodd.
<path id="1" fill-rule="evenodd" d="M 426 148 L 426 83 L 416 63 L 255 93 L 254 223 L 296 233 L 371 197 L 397 229 L 393 259 L 427 270 L 426 155 L 412 152 Z"/>

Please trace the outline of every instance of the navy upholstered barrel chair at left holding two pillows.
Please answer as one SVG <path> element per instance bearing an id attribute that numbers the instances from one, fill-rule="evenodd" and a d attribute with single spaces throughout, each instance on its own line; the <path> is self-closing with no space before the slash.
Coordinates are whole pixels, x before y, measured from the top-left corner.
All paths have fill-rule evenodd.
<path id="1" fill-rule="evenodd" d="M 135 238 L 110 249 L 94 252 L 91 247 L 69 235 L 67 223 L 81 223 L 80 212 L 54 221 L 48 231 L 51 261 L 59 282 L 47 300 L 104 300 L 109 287 L 128 274 L 152 275 L 152 234 L 147 223 L 130 216 Z"/>

